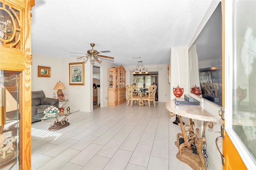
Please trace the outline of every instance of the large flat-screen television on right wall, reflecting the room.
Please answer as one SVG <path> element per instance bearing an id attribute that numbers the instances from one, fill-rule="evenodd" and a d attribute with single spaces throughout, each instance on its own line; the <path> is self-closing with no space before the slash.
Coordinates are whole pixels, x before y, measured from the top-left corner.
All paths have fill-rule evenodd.
<path id="1" fill-rule="evenodd" d="M 188 50 L 190 88 L 200 87 L 202 98 L 222 106 L 222 5 L 218 4 Z"/>

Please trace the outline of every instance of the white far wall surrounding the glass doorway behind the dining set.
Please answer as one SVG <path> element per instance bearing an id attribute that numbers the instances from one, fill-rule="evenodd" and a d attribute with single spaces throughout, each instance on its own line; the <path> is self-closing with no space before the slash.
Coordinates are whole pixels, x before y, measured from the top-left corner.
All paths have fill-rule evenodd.
<path id="1" fill-rule="evenodd" d="M 132 71 L 129 71 L 136 68 L 137 65 L 133 66 L 124 66 L 126 70 L 126 85 L 132 84 Z M 159 102 L 168 102 L 170 100 L 170 84 L 168 83 L 168 65 L 159 64 L 159 65 L 144 65 L 145 68 L 148 68 L 148 71 L 158 71 L 158 101 Z M 126 99 L 128 99 L 126 93 Z"/>

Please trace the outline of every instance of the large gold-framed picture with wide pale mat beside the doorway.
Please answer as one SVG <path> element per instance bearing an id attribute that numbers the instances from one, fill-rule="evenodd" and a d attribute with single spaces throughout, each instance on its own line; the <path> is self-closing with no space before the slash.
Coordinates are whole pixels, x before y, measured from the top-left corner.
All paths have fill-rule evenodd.
<path id="1" fill-rule="evenodd" d="M 84 85 L 84 62 L 69 63 L 69 85 Z"/>

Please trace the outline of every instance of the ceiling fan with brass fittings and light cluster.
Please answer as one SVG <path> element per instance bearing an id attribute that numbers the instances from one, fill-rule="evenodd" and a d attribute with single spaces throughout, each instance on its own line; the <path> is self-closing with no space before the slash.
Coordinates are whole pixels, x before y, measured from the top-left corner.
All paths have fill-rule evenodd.
<path id="1" fill-rule="evenodd" d="M 89 49 L 87 51 L 87 54 L 85 54 L 85 53 L 74 53 L 74 54 L 85 54 L 84 56 L 76 58 L 77 60 L 83 59 L 84 62 L 86 63 L 86 61 L 89 59 L 90 62 L 92 63 L 92 65 L 93 65 L 95 63 L 95 61 L 97 61 L 98 63 L 101 63 L 102 60 L 99 57 L 108 58 L 108 59 L 114 59 L 114 57 L 108 57 L 108 56 L 105 56 L 105 55 L 99 55 L 100 52 L 98 52 L 97 50 L 93 49 L 95 44 L 94 43 L 90 43 L 90 45 L 92 46 L 92 49 Z M 76 56 L 76 55 L 71 55 L 71 56 Z"/>

